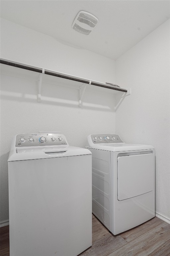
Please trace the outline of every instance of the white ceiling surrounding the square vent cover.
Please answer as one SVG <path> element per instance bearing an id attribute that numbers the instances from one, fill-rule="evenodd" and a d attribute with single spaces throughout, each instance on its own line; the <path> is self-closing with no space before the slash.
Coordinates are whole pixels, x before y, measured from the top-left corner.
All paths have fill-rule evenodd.
<path id="1" fill-rule="evenodd" d="M 4 19 L 114 60 L 170 18 L 169 0 L 1 0 L 0 4 Z M 88 36 L 71 28 L 79 11 L 99 19 Z"/>

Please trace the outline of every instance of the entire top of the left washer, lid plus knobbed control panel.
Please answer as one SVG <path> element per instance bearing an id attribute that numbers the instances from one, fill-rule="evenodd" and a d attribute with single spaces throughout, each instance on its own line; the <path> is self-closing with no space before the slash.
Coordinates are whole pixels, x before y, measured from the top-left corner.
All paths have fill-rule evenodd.
<path id="1" fill-rule="evenodd" d="M 12 140 L 8 162 L 88 154 L 88 149 L 69 146 L 60 133 L 22 133 Z"/>

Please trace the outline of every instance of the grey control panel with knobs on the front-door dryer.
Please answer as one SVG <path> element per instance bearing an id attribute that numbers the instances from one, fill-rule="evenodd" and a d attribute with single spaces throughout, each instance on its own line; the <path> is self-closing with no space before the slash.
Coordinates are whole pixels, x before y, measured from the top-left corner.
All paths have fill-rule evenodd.
<path id="1" fill-rule="evenodd" d="M 94 144 L 123 143 L 118 134 L 91 134 L 90 138 Z"/>

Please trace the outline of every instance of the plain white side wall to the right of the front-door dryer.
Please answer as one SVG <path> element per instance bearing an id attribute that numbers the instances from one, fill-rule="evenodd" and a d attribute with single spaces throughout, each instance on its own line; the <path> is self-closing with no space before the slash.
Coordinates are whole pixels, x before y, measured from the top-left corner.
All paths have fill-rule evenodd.
<path id="1" fill-rule="evenodd" d="M 116 83 L 132 89 L 116 112 L 116 133 L 156 150 L 156 212 L 170 221 L 170 22 L 116 61 Z"/>

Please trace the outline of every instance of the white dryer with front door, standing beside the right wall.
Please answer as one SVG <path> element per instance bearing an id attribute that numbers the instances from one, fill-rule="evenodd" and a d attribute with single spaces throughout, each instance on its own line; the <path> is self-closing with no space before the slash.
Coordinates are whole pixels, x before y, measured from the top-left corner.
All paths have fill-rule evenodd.
<path id="1" fill-rule="evenodd" d="M 117 134 L 88 136 L 92 152 L 92 212 L 114 234 L 155 216 L 155 152 Z"/>

